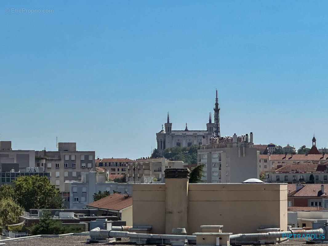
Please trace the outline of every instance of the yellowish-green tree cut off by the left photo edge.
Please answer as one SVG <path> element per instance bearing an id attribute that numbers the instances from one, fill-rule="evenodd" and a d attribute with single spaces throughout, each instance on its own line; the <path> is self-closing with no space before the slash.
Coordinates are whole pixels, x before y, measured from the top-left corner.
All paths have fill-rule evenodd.
<path id="1" fill-rule="evenodd" d="M 0 200 L 0 227 L 17 222 L 24 209 L 10 198 Z"/>

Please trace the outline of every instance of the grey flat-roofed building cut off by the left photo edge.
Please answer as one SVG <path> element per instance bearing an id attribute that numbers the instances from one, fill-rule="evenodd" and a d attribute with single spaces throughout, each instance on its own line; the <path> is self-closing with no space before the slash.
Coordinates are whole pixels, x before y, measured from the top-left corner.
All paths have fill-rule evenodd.
<path id="1" fill-rule="evenodd" d="M 12 150 L 11 141 L 0 141 L 0 169 L 1 172 L 15 172 L 27 167 L 34 167 L 34 150 Z"/>

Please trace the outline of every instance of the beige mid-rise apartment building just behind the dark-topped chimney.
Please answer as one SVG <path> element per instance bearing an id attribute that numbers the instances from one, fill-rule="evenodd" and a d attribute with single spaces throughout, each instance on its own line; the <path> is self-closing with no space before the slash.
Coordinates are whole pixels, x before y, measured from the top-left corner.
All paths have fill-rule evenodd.
<path id="1" fill-rule="evenodd" d="M 163 181 L 164 171 L 167 168 L 188 168 L 189 164 L 183 161 L 171 161 L 162 158 L 142 158 L 128 164 L 127 181 L 145 183 L 148 177 L 154 177 L 158 181 Z"/>

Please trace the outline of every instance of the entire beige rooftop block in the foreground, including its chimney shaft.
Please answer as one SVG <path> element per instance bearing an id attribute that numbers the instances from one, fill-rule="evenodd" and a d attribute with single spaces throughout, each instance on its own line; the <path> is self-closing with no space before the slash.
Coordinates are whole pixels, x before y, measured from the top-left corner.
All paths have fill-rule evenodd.
<path id="1" fill-rule="evenodd" d="M 166 181 L 169 178 L 166 179 Z M 177 180 L 177 179 L 171 179 Z M 182 179 L 180 179 L 182 180 Z M 178 181 L 172 181 L 173 195 L 178 197 Z M 171 186 L 171 185 L 170 185 Z M 166 196 L 164 184 L 133 185 L 133 224 L 153 225 L 151 233 L 167 233 L 176 220 L 165 218 Z M 170 189 L 171 192 L 171 187 Z M 186 194 L 187 196 L 187 194 Z M 287 184 L 189 184 L 188 187 L 187 233 L 200 232 L 201 225 L 224 225 L 223 232 L 256 233 L 259 226 L 280 227 L 287 230 Z M 172 197 L 172 198 L 171 198 Z M 180 197 L 180 200 L 184 197 Z M 175 199 L 178 200 L 178 199 Z M 174 211 L 173 202 L 169 202 L 168 212 L 184 213 L 181 206 Z M 170 223 L 172 223 L 170 225 Z M 180 226 L 179 226 L 180 227 Z"/>

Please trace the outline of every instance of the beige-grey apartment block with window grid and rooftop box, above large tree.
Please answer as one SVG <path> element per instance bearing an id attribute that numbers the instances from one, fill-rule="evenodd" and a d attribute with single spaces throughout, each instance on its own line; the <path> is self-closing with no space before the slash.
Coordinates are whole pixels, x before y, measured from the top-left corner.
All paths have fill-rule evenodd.
<path id="1" fill-rule="evenodd" d="M 94 151 L 76 151 L 76 143 L 58 143 L 58 151 L 35 151 L 35 167 L 50 173 L 51 184 L 64 191 L 66 180 L 81 180 L 82 172 L 95 171 L 94 156 Z"/>

